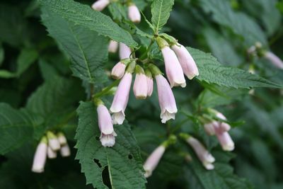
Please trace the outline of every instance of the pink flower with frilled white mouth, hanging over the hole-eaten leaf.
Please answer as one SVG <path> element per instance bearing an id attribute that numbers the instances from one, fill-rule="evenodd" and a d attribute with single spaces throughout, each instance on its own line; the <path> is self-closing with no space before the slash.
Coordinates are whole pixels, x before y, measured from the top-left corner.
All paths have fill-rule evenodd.
<path id="1" fill-rule="evenodd" d="M 115 133 L 112 125 L 111 115 L 105 105 L 100 104 L 97 108 L 98 126 L 101 132 L 100 142 L 103 147 L 113 147 L 115 144 Z"/>

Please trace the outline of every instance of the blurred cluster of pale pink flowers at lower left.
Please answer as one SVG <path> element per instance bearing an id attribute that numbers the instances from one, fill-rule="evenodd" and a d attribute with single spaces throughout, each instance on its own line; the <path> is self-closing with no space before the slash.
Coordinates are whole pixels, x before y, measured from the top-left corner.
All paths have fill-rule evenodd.
<path id="1" fill-rule="evenodd" d="M 35 155 L 33 157 L 32 171 L 42 173 L 45 169 L 46 158 L 55 159 L 57 151 L 61 156 L 66 157 L 71 154 L 67 139 L 62 132 L 54 134 L 48 131 L 46 136 L 42 137 L 40 144 L 37 145 Z"/>

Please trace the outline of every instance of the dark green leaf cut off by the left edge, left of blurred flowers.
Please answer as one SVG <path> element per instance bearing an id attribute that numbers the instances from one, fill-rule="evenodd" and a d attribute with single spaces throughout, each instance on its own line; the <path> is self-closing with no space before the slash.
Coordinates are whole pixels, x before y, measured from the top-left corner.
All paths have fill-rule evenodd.
<path id="1" fill-rule="evenodd" d="M 0 103 L 0 154 L 12 151 L 33 137 L 33 119 L 23 110 Z"/>

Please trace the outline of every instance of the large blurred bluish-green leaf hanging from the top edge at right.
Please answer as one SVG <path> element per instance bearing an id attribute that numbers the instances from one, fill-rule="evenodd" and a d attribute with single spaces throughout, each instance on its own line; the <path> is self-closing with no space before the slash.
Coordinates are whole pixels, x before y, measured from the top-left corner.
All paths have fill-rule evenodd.
<path id="1" fill-rule="evenodd" d="M 229 1 L 201 0 L 200 4 L 204 11 L 212 13 L 212 18 L 216 23 L 224 25 L 233 30 L 236 35 L 240 35 L 247 47 L 254 45 L 255 42 L 262 42 L 263 45 L 267 45 L 265 34 L 260 26 L 245 13 L 233 11 Z"/>

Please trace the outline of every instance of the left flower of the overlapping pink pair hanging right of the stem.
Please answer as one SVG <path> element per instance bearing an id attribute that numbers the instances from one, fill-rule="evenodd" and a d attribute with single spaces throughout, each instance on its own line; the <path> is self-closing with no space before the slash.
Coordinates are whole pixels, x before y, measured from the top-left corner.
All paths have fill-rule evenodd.
<path id="1" fill-rule="evenodd" d="M 180 62 L 178 61 L 177 56 L 175 55 L 173 50 L 171 50 L 166 40 L 163 40 L 162 38 L 158 37 L 156 38 L 156 41 L 163 55 L 165 69 L 166 69 L 166 76 L 168 77 L 171 87 L 173 86 L 185 87 L 186 82 L 185 82 L 183 69 L 180 65 Z"/>

